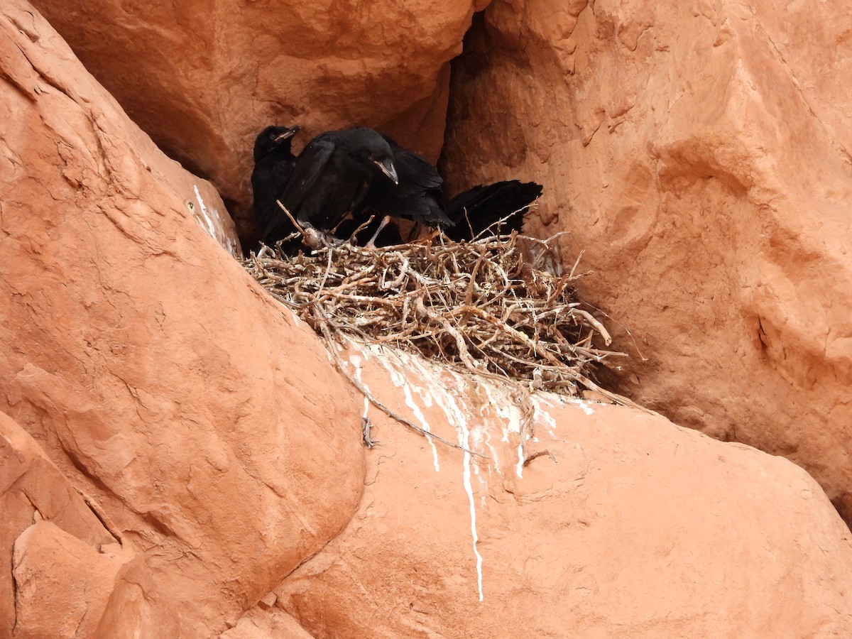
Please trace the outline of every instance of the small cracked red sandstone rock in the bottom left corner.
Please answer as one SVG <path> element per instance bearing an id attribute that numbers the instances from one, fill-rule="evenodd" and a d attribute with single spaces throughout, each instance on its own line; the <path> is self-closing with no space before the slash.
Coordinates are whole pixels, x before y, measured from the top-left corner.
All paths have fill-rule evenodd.
<path id="1" fill-rule="evenodd" d="M 36 441 L 3 413 L 0 495 L 0 548 L 9 558 L 0 572 L 0 636 L 93 636 L 130 556 Z"/>

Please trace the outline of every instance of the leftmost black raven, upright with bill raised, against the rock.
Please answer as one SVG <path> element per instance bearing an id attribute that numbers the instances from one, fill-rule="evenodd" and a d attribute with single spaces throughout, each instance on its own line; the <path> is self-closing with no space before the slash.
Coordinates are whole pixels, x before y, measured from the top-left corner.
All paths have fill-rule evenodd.
<path id="1" fill-rule="evenodd" d="M 269 222 L 281 215 L 276 200 L 284 193 L 287 181 L 296 164 L 296 156 L 291 151 L 293 135 L 299 132 L 298 126 L 268 126 L 255 139 L 255 168 L 251 171 L 251 191 L 253 195 L 252 212 L 257 227 L 261 231 L 269 226 Z M 290 222 L 285 220 L 285 222 Z M 296 231 L 292 223 L 283 224 L 273 235 L 265 235 L 262 239 L 267 244 L 274 244 L 279 239 Z M 296 240 L 296 244 L 299 241 Z"/>

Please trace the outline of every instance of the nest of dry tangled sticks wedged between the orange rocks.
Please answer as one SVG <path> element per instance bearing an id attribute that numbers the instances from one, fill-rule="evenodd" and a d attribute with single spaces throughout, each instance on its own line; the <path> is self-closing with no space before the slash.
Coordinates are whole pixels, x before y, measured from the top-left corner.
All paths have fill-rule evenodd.
<path id="1" fill-rule="evenodd" d="M 348 337 L 405 348 L 509 384 L 522 407 L 524 445 L 535 390 L 580 396 L 589 389 L 636 406 L 594 381 L 596 366 L 625 354 L 606 349 L 612 342 L 606 328 L 582 308 L 577 263 L 560 275 L 541 267 L 553 257 L 556 237 L 512 233 L 457 243 L 433 233 L 381 249 L 320 245 L 295 257 L 264 246 L 244 266 L 329 342 Z M 330 350 L 374 405 L 423 432 L 371 397 L 343 370 L 337 349 Z M 370 444 L 368 432 L 365 440 Z"/>

